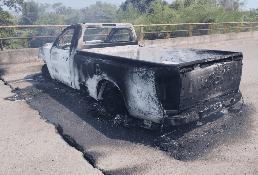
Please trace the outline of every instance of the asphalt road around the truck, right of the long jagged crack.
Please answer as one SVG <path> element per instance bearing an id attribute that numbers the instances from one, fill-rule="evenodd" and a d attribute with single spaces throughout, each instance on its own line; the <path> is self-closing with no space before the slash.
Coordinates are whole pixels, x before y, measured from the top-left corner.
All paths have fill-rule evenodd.
<path id="1" fill-rule="evenodd" d="M 257 46 L 196 46 L 243 52 L 243 109 L 225 109 L 197 124 L 161 132 L 141 128 L 142 121 L 126 113 L 110 115 L 102 103 L 62 83 L 46 82 L 40 73 L 2 79 L 13 89 L 19 87 L 18 96 L 7 100 L 26 100 L 105 174 L 258 174 Z"/>

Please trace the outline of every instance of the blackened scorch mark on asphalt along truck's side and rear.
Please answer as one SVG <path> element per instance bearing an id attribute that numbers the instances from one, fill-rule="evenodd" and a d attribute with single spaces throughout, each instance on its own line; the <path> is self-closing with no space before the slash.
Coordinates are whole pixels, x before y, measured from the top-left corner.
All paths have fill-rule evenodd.
<path id="1" fill-rule="evenodd" d="M 169 152 L 171 157 L 180 161 L 198 159 L 219 145 L 230 147 L 235 140 L 248 136 L 248 126 L 251 125 L 249 116 L 252 109 L 244 104 L 240 111 L 233 110 L 234 108 L 230 108 L 230 111 L 224 109 L 192 125 L 180 128 L 163 127 L 159 139 L 159 128 L 154 131 L 145 130 L 140 127 L 142 120 L 132 118 L 127 112 L 111 115 L 104 110 L 101 103 L 96 102 L 93 98 L 62 83 L 46 82 L 40 74 L 29 75 L 25 78 L 33 79 L 30 81 L 33 85 L 17 90 L 16 93 L 19 97 L 22 96 L 28 104 L 39 110 L 43 118 L 56 126 L 67 143 L 82 151 L 85 159 L 92 164 L 94 164 L 95 158 L 87 154 L 84 148 L 77 144 L 77 141 L 69 134 L 62 132 L 62 122 L 64 120 L 72 121 L 73 118 L 70 116 L 62 118 L 57 115 L 58 113 L 71 111 L 80 118 L 81 122 L 87 122 L 108 138 L 155 147 Z M 56 102 L 55 106 L 52 104 L 53 101 Z M 63 108 L 61 109 L 58 105 Z M 239 109 L 241 103 L 238 102 L 234 107 Z"/>

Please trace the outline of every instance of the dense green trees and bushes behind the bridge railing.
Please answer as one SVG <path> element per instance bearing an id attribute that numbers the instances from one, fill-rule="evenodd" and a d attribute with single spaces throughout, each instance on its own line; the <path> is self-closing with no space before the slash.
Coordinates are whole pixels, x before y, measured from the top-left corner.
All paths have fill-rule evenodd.
<path id="1" fill-rule="evenodd" d="M 0 0 L 0 25 L 47 25 L 74 24 L 77 22 L 169 24 L 169 23 L 211 23 L 211 22 L 256 22 L 258 9 L 243 11 L 245 0 L 175 0 L 171 4 L 164 0 L 126 0 L 117 6 L 112 3 L 95 4 L 80 9 L 66 7 L 62 3 L 40 4 L 33 0 Z M 3 11 L 6 5 L 21 15 Z M 249 24 L 248 24 L 249 25 Z M 223 28 L 217 25 L 214 28 Z M 208 25 L 195 25 L 194 29 L 207 29 Z M 170 30 L 188 30 L 189 25 L 171 26 Z M 144 27 L 144 32 L 165 31 L 164 27 Z M 136 32 L 139 28 L 136 28 Z M 212 33 L 221 33 L 213 30 Z M 228 32 L 235 32 L 235 30 Z M 58 35 L 58 28 L 24 28 L 1 30 L 2 37 Z M 207 34 L 194 31 L 193 35 Z M 188 36 L 188 32 L 173 32 L 171 37 Z M 165 38 L 166 33 L 145 34 L 144 39 Z M 53 42 L 54 38 L 5 40 L 4 48 L 40 47 Z"/>

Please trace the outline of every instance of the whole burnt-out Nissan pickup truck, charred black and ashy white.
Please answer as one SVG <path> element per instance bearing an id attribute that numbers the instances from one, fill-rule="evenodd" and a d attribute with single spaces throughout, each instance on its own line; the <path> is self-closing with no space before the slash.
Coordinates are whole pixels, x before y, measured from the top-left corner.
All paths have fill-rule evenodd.
<path id="1" fill-rule="evenodd" d="M 74 24 L 39 48 L 43 76 L 103 100 L 111 113 L 167 127 L 241 99 L 240 52 L 138 45 L 131 24 Z"/>

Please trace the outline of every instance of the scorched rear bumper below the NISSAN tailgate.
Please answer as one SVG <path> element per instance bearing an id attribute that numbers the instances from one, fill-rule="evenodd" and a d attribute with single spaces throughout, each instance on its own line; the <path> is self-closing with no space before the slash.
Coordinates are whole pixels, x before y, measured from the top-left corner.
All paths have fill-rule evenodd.
<path id="1" fill-rule="evenodd" d="M 227 108 L 237 103 L 242 97 L 240 92 L 223 95 L 204 103 L 199 103 L 197 106 L 188 109 L 176 116 L 164 118 L 164 126 L 180 126 L 190 122 L 196 122 L 199 119 L 207 117 L 213 113 L 219 112 L 223 108 Z"/>

